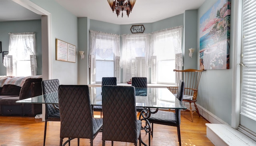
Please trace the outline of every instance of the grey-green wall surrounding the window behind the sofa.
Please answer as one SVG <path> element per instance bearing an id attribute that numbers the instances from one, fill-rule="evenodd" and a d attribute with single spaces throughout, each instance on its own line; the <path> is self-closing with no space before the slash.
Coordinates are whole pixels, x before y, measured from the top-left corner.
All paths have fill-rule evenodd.
<path id="1" fill-rule="evenodd" d="M 37 74 L 42 74 L 42 33 L 41 20 L 30 21 L 8 21 L 0 22 L 0 41 L 2 42 L 2 52 L 9 51 L 9 34 L 18 32 L 36 32 L 36 56 L 37 56 Z M 0 53 L 0 76 L 6 76 L 6 67 L 2 62 L 2 53 Z"/>

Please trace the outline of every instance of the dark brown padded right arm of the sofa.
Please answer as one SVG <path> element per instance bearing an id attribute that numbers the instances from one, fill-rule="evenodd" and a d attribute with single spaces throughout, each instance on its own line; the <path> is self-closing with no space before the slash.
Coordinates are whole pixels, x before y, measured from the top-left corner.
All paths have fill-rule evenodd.
<path id="1" fill-rule="evenodd" d="M 25 83 L 23 84 L 23 86 L 20 90 L 20 100 L 31 97 L 30 85 L 31 85 L 32 82 L 42 82 L 42 78 L 28 78 L 28 79 L 26 79 Z"/>

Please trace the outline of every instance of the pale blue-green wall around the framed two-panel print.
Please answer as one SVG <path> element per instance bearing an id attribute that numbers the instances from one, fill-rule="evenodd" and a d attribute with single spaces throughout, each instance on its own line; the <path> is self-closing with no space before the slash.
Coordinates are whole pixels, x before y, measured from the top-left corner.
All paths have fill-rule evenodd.
<path id="1" fill-rule="evenodd" d="M 51 13 L 52 79 L 58 78 L 60 84 L 77 84 L 78 55 L 76 56 L 76 63 L 57 61 L 55 39 L 58 38 L 75 45 L 76 52 L 78 52 L 78 18 L 54 0 L 30 1 Z"/>

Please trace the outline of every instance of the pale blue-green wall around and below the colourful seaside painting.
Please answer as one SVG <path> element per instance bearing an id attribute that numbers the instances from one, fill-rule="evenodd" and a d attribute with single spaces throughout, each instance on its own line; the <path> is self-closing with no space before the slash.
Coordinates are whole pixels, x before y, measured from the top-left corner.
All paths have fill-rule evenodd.
<path id="1" fill-rule="evenodd" d="M 217 0 L 206 0 L 198 9 L 198 36 L 197 48 L 199 44 L 199 24 L 202 15 L 209 10 Z M 232 6 L 231 6 L 232 16 Z M 232 19 L 232 17 L 231 17 Z M 231 24 L 231 28 L 233 25 Z M 230 29 L 232 30 L 232 29 Z M 233 41 L 230 35 L 230 44 Z M 233 54 L 232 47 L 230 47 L 230 54 Z M 198 104 L 210 111 L 224 122 L 231 125 L 232 112 L 232 55 L 230 55 L 230 69 L 228 70 L 205 70 L 202 73 L 200 85 L 198 88 Z"/>

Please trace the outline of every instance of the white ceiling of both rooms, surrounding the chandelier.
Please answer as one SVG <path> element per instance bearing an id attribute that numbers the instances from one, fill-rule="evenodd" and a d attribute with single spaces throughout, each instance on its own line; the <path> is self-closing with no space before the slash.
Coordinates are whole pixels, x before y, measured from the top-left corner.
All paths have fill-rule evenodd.
<path id="1" fill-rule="evenodd" d="M 77 17 L 88 17 L 93 20 L 114 24 L 152 23 L 178 14 L 185 10 L 198 9 L 205 0 L 137 0 L 130 16 L 126 12 L 122 18 L 112 12 L 107 0 L 56 0 Z M 1 0 L 0 21 L 35 20 L 40 15 L 16 4 L 11 0 Z"/>

